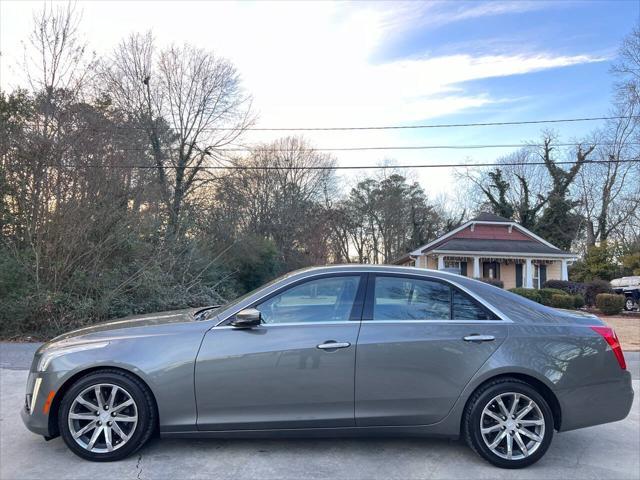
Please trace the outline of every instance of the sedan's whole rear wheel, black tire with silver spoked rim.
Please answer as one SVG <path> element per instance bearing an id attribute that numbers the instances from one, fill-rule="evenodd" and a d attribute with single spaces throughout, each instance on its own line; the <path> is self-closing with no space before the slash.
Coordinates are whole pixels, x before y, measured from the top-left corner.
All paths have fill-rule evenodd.
<path id="1" fill-rule="evenodd" d="M 517 379 L 490 382 L 473 394 L 465 411 L 467 443 L 501 468 L 522 468 L 540 460 L 553 429 L 546 400 Z"/>

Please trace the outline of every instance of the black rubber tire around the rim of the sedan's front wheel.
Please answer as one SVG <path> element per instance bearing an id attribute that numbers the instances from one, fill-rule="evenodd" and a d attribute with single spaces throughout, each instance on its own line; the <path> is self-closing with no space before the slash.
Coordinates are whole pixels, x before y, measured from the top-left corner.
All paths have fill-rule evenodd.
<path id="1" fill-rule="evenodd" d="M 81 392 L 105 383 L 117 385 L 131 396 L 137 408 L 138 421 L 133 433 L 130 433 L 131 437 L 123 445 L 111 452 L 96 453 L 86 450 L 73 438 L 69 428 L 69 413 L 73 401 Z M 157 415 L 152 394 L 143 382 L 127 372 L 105 369 L 78 379 L 67 390 L 58 411 L 58 427 L 67 447 L 79 457 L 93 462 L 112 462 L 132 455 L 149 440 L 156 428 Z"/>

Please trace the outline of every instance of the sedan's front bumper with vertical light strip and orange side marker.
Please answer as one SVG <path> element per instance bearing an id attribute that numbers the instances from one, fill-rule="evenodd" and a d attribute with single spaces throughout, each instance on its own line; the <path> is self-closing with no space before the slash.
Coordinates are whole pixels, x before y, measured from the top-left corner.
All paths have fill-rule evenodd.
<path id="1" fill-rule="evenodd" d="M 49 425 L 52 405 L 60 384 L 60 372 L 29 372 L 25 401 L 20 417 L 33 433 L 51 437 Z"/>

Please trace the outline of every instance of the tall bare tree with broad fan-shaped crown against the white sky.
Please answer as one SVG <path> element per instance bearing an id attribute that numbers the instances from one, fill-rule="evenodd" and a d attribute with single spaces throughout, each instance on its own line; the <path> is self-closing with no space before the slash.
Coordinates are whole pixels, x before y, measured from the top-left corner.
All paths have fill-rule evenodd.
<path id="1" fill-rule="evenodd" d="M 185 198 L 201 185 L 207 161 L 228 157 L 224 148 L 251 125 L 251 98 L 229 61 L 189 45 L 156 53 L 151 34 L 123 41 L 101 78 L 118 107 L 147 134 L 168 232 L 175 235 Z"/>

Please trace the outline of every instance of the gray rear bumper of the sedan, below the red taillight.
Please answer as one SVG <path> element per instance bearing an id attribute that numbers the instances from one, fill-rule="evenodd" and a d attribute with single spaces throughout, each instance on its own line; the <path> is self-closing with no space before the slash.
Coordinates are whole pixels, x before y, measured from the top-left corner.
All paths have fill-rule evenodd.
<path id="1" fill-rule="evenodd" d="M 603 383 L 556 391 L 562 409 L 560 431 L 624 419 L 633 404 L 631 373 Z"/>

